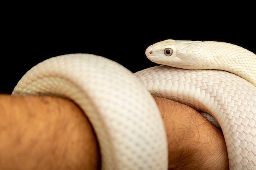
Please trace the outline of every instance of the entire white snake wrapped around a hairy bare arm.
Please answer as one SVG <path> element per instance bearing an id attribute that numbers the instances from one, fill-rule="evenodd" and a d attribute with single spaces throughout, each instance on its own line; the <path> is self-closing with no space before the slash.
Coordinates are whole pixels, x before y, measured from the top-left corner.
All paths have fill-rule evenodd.
<path id="1" fill-rule="evenodd" d="M 256 55 L 224 42 L 174 40 L 153 44 L 146 55 L 184 69 L 160 65 L 132 74 L 101 56 L 61 55 L 31 68 L 12 95 L 76 102 L 97 134 L 103 170 L 168 168 L 166 132 L 149 91 L 213 115 L 225 137 L 230 169 L 256 169 Z M 185 70 L 191 68 L 214 70 Z"/>

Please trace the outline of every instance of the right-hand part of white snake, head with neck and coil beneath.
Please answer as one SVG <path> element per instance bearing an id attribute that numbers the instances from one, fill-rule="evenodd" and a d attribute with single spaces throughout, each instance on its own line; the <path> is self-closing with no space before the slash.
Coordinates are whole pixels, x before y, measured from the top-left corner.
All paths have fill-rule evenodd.
<path id="1" fill-rule="evenodd" d="M 179 40 L 157 42 L 145 53 L 163 65 L 135 73 L 141 83 L 211 114 L 225 137 L 230 170 L 256 170 L 256 55 L 225 42 Z"/>

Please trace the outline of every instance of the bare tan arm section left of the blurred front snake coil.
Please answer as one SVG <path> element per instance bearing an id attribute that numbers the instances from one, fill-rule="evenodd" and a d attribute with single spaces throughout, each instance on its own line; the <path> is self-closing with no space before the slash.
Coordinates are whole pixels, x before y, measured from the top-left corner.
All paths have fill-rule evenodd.
<path id="1" fill-rule="evenodd" d="M 73 102 L 0 95 L 0 169 L 99 169 L 92 127 Z"/>

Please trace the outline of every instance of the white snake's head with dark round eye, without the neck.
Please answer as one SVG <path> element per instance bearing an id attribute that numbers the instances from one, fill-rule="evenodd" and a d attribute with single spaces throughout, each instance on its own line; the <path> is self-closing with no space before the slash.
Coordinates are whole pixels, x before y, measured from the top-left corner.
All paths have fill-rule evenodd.
<path id="1" fill-rule="evenodd" d="M 201 41 L 164 40 L 150 45 L 146 49 L 146 56 L 152 62 L 168 66 L 189 69 L 201 61 L 198 45 Z"/>

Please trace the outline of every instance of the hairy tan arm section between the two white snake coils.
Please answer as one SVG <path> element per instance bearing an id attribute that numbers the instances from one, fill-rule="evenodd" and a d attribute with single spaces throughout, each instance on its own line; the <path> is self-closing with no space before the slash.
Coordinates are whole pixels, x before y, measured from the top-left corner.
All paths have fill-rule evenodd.
<path id="1" fill-rule="evenodd" d="M 167 132 L 169 169 L 228 170 L 222 132 L 195 109 L 156 97 Z"/>

